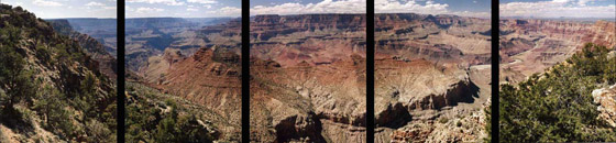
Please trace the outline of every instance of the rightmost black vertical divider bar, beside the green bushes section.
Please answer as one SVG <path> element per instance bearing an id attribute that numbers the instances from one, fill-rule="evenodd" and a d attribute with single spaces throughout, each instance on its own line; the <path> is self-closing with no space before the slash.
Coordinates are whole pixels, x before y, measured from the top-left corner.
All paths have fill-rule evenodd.
<path id="1" fill-rule="evenodd" d="M 498 63 L 501 62 L 501 56 L 498 55 L 498 34 L 499 34 L 499 16 L 498 16 L 498 0 L 492 0 L 492 142 L 498 142 Z"/>

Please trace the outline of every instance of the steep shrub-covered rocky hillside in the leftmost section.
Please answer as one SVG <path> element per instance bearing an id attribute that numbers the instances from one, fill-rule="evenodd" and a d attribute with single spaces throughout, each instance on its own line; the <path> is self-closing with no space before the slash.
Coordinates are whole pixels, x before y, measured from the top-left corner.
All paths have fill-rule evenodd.
<path id="1" fill-rule="evenodd" d="M 21 7 L 0 21 L 0 142 L 116 142 L 116 86 L 94 55 Z"/>

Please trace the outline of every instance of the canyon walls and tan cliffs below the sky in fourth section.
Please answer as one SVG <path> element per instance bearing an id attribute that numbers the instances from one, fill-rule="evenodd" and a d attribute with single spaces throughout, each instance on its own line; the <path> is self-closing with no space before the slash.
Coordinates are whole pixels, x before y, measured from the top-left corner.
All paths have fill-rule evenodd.
<path id="1" fill-rule="evenodd" d="M 375 15 L 375 142 L 480 142 L 490 100 L 490 20 Z"/>

